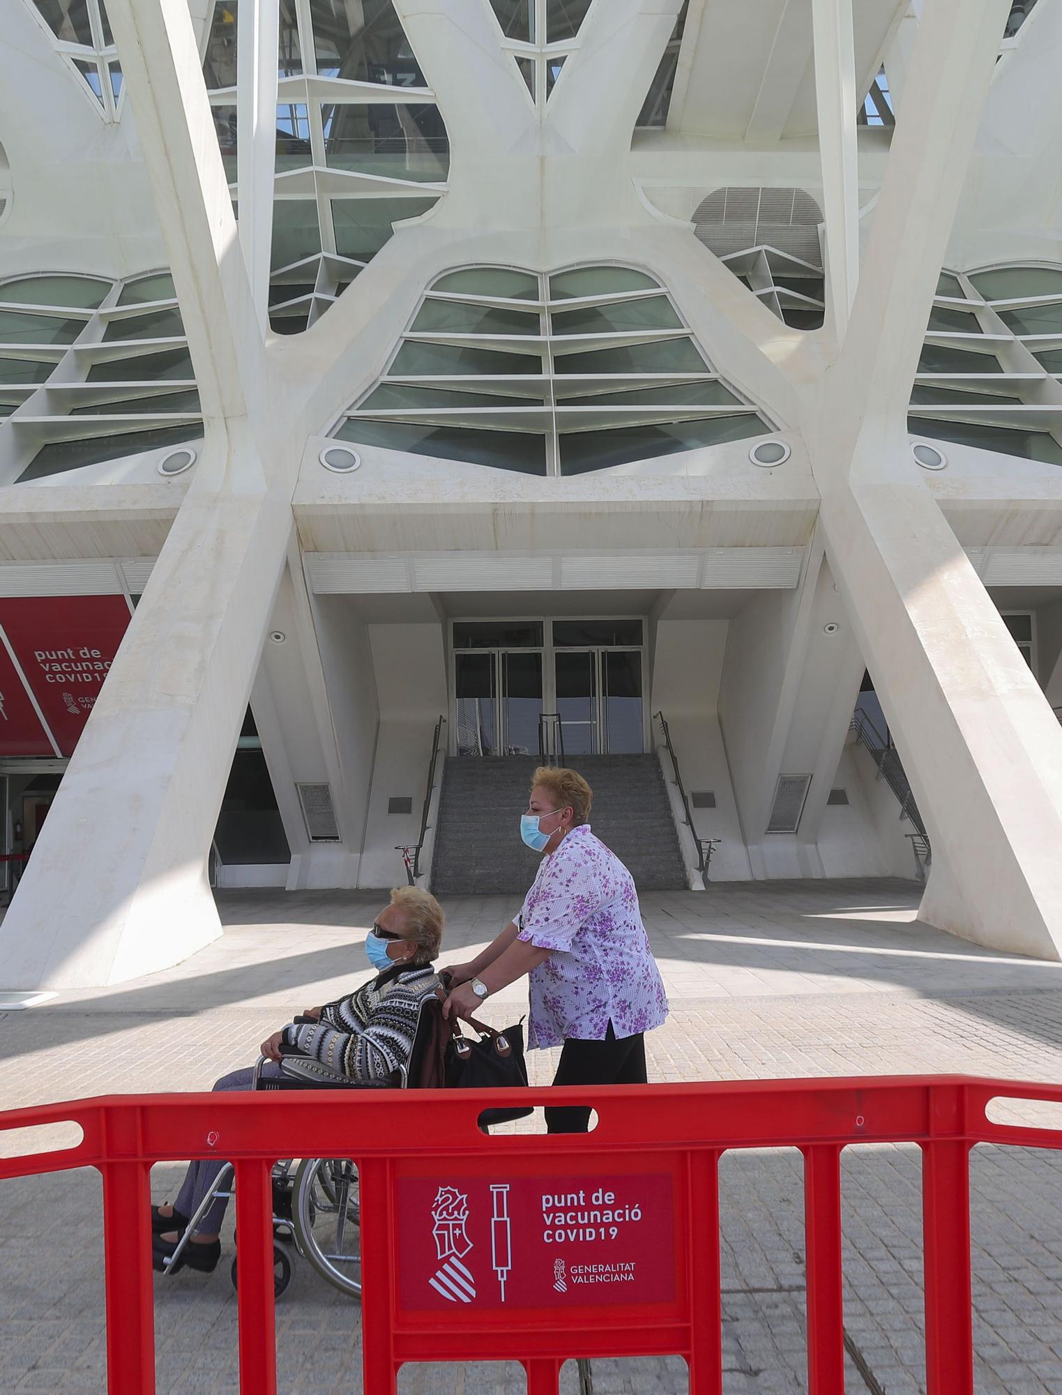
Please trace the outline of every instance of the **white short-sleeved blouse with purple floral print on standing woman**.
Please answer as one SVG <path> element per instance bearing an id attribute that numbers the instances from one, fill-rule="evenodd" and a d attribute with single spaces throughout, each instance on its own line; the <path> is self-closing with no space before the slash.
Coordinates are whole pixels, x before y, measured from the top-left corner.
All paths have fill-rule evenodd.
<path id="1" fill-rule="evenodd" d="M 542 858 L 517 939 L 553 950 L 531 971 L 528 1046 L 569 1036 L 603 1041 L 659 1027 L 668 1016 L 634 877 L 584 823 Z"/>

